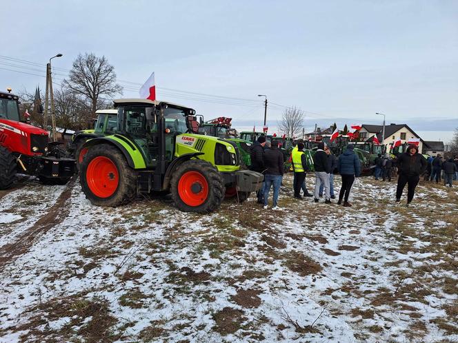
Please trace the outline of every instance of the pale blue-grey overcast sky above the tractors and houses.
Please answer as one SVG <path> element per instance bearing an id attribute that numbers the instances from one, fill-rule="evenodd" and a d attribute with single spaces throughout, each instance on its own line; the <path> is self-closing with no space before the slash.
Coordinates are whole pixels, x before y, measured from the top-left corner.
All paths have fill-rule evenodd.
<path id="1" fill-rule="evenodd" d="M 93 52 L 115 66 L 123 97 L 138 97 L 155 72 L 158 98 L 208 119 L 259 125 L 257 94 L 272 103 L 270 125 L 282 106 L 305 111 L 307 126 L 381 123 L 375 112 L 388 123 L 458 118 L 455 0 L 17 0 L 2 2 L 0 30 L 2 90 L 44 88 L 58 52 L 61 83 L 79 53 Z"/>

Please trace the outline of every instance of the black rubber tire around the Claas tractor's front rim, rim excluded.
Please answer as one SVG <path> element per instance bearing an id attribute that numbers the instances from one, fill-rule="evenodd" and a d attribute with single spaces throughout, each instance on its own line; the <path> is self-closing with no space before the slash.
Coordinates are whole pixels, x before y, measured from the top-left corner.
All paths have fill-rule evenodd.
<path id="1" fill-rule="evenodd" d="M 209 187 L 208 199 L 202 205 L 197 207 L 186 205 L 181 200 L 178 193 L 178 183 L 181 175 L 183 175 L 185 171 L 190 170 L 199 171 L 203 176 L 205 176 Z M 224 194 L 226 193 L 226 188 L 223 185 L 221 174 L 219 174 L 219 171 L 211 163 L 205 160 L 187 160 L 186 162 L 181 163 L 181 165 L 179 165 L 174 171 L 170 182 L 170 193 L 172 194 L 172 199 L 174 200 L 175 205 L 180 211 L 206 214 L 219 208 L 221 202 L 223 201 Z"/>

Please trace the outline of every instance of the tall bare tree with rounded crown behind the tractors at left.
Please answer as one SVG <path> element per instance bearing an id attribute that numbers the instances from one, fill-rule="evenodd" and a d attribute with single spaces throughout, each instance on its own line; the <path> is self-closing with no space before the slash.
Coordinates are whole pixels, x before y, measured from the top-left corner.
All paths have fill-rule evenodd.
<path id="1" fill-rule="evenodd" d="M 87 98 L 92 114 L 103 105 L 102 96 L 122 94 L 121 85 L 116 83 L 115 68 L 108 63 L 105 56 L 97 57 L 90 53 L 81 55 L 73 62 L 69 79 L 63 80 L 63 87 L 77 95 Z"/>

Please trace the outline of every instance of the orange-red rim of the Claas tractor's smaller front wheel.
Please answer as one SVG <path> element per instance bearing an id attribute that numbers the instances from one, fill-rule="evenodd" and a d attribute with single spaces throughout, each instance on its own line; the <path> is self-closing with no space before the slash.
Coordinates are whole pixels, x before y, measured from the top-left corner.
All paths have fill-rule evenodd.
<path id="1" fill-rule="evenodd" d="M 208 182 L 199 171 L 186 171 L 178 182 L 178 194 L 188 206 L 197 207 L 208 198 Z"/>

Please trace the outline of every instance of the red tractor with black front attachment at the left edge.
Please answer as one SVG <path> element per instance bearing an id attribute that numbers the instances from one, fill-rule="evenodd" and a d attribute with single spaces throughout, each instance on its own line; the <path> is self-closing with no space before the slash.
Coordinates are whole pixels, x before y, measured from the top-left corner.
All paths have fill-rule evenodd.
<path id="1" fill-rule="evenodd" d="M 17 173 L 38 176 L 46 184 L 70 180 L 75 160 L 63 156 L 60 143 L 48 143 L 48 136 L 21 121 L 18 96 L 0 92 L 0 189 L 11 187 Z"/>

